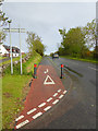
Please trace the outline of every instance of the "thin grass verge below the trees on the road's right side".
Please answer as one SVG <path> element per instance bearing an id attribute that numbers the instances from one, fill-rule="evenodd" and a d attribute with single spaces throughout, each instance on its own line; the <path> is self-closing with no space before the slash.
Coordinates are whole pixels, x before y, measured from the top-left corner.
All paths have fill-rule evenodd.
<path id="1" fill-rule="evenodd" d="M 85 62 L 98 63 L 98 60 L 95 60 L 95 59 L 73 58 L 73 57 L 70 57 L 70 56 L 60 56 L 60 57 L 61 57 L 61 58 L 73 59 L 73 60 L 81 60 L 81 61 L 85 61 Z"/>

